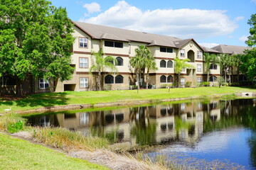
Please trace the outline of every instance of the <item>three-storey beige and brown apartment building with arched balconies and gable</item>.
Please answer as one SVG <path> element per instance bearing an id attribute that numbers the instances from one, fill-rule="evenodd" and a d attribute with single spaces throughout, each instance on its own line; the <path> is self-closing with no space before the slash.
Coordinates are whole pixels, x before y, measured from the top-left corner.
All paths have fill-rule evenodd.
<path id="1" fill-rule="evenodd" d="M 155 35 L 134 30 L 124 30 L 90 23 L 73 21 L 75 42 L 73 45 L 72 65 L 75 67 L 73 79 L 70 81 L 56 81 L 55 91 L 88 91 L 96 90 L 96 73 L 90 74 L 94 56 L 102 48 L 105 55 L 112 55 L 117 59 L 115 63 L 118 72 L 105 70 L 102 76 L 102 87 L 107 90 L 129 89 L 135 84 L 134 70 L 129 65 L 129 59 L 135 56 L 135 49 L 145 45 L 156 59 L 156 71 L 150 72 L 149 84 L 160 88 L 174 83 L 174 58 L 190 59 L 193 69 L 183 69 L 181 85 L 191 81 L 192 86 L 206 80 L 203 65 L 203 52 L 220 53 L 217 50 L 201 47 L 191 39 L 182 40 L 165 35 Z M 210 81 L 216 81 L 220 76 L 218 66 L 211 67 Z M 140 80 L 142 85 L 142 80 Z"/>

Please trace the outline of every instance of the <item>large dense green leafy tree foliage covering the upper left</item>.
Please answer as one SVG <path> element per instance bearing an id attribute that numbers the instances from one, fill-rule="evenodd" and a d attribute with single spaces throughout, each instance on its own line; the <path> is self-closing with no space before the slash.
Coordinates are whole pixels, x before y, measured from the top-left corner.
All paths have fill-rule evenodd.
<path id="1" fill-rule="evenodd" d="M 29 74 L 44 79 L 71 78 L 70 49 L 73 24 L 65 8 L 46 0 L 3 0 L 0 4 L 0 76 L 21 80 Z"/>

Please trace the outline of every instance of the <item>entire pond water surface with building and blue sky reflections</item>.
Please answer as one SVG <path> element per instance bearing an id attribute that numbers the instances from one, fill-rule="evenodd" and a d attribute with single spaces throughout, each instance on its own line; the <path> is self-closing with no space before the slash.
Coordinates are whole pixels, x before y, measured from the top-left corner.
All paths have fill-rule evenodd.
<path id="1" fill-rule="evenodd" d="M 123 147 L 161 145 L 157 154 L 229 160 L 256 169 L 256 98 L 193 101 L 26 117 L 32 126 L 63 127 Z M 157 147 L 156 147 L 157 148 Z"/>

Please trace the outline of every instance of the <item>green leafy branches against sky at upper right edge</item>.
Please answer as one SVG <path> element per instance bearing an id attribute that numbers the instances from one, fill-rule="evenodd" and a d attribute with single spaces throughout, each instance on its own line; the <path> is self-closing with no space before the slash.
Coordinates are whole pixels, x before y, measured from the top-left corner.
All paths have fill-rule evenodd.
<path id="1" fill-rule="evenodd" d="M 250 47 L 256 46 L 256 13 L 252 14 L 250 20 L 247 22 L 250 28 L 250 36 L 248 36 L 248 40 L 246 41 L 247 45 Z"/>

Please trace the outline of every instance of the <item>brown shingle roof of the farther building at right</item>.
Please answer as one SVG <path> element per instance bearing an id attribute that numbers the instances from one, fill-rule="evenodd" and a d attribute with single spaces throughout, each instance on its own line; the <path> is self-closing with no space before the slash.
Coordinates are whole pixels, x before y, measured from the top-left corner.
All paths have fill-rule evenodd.
<path id="1" fill-rule="evenodd" d="M 252 47 L 243 47 L 243 46 L 236 46 L 236 45 L 217 45 L 215 47 L 212 47 L 211 49 L 217 50 L 218 52 L 230 54 L 230 55 L 236 55 L 236 54 L 243 54 L 244 50 L 252 49 Z"/>

